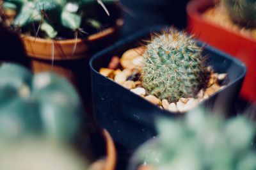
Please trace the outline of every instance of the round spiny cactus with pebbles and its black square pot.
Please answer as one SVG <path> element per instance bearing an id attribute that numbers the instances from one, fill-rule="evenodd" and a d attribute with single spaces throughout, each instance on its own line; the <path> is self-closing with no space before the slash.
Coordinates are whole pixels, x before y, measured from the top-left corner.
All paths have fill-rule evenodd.
<path id="1" fill-rule="evenodd" d="M 246 72 L 241 61 L 212 47 L 196 43 L 191 36 L 174 29 L 171 29 L 170 34 L 150 37 L 151 32 L 159 33 L 162 29 L 163 27 L 145 29 L 124 38 L 95 54 L 90 61 L 95 119 L 109 130 L 120 155 L 131 154 L 141 143 L 156 135 L 154 120 L 158 116 L 180 117 L 184 115 L 180 112 L 186 113 L 193 109 L 199 101 L 199 105 L 204 105 L 209 110 L 228 113 L 241 88 Z M 150 40 L 150 43 L 146 47 L 140 47 L 140 40 Z M 141 66 L 145 62 L 146 65 Z M 207 66 L 212 67 L 210 73 Z M 172 76 L 175 72 L 182 73 Z M 170 81 L 167 82 L 168 77 Z M 223 77 L 228 77 L 228 82 Z M 176 79 L 182 81 L 175 82 Z M 191 82 L 198 82 L 198 86 L 188 84 L 189 79 L 193 80 Z M 223 82 L 226 86 L 220 88 Z M 170 84 L 175 88 L 172 89 Z M 189 94 L 182 91 L 182 88 L 189 91 Z M 208 88 L 211 91 L 207 91 Z M 160 90 L 166 93 L 159 93 Z M 177 93 L 164 95 L 168 91 Z M 211 95 L 207 94 L 204 98 L 204 94 L 209 92 Z M 173 94 L 182 96 L 172 96 Z M 197 98 L 197 95 L 201 98 Z M 131 136 L 136 140 L 131 141 Z"/>

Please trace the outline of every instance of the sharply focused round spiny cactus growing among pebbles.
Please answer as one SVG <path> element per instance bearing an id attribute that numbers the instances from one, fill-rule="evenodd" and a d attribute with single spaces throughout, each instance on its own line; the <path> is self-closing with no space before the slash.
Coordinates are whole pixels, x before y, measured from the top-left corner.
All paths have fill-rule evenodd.
<path id="1" fill-rule="evenodd" d="M 202 48 L 184 32 L 171 28 L 153 36 L 143 57 L 143 87 L 159 99 L 193 97 L 206 84 Z"/>

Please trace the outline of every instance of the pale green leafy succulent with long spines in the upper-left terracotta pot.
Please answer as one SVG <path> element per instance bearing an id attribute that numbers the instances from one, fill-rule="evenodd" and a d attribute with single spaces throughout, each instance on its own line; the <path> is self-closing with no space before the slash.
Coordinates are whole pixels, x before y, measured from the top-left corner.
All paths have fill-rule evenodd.
<path id="1" fill-rule="evenodd" d="M 3 7 L 17 13 L 12 26 L 22 33 L 74 38 L 113 25 L 115 15 L 108 17 L 108 8 L 113 12 L 115 4 L 116 0 L 4 0 Z"/>

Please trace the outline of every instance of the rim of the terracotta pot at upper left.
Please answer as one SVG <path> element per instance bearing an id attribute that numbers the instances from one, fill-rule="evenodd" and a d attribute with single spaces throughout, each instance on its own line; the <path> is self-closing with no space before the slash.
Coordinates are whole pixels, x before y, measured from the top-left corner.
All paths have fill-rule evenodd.
<path id="1" fill-rule="evenodd" d="M 35 38 L 35 36 L 29 36 L 21 34 L 20 37 L 22 40 L 29 40 L 33 43 L 52 43 L 55 44 L 62 44 L 62 45 L 72 45 L 74 43 L 82 43 L 84 41 L 93 42 L 95 40 L 99 40 L 100 38 L 103 38 L 104 36 L 110 35 L 115 31 L 116 27 L 121 27 L 124 24 L 124 20 L 122 18 L 116 19 L 116 24 L 114 26 L 108 27 L 106 29 L 103 29 L 102 31 L 99 31 L 98 33 L 89 35 L 87 38 L 72 38 L 67 40 L 52 40 L 50 38 Z"/>

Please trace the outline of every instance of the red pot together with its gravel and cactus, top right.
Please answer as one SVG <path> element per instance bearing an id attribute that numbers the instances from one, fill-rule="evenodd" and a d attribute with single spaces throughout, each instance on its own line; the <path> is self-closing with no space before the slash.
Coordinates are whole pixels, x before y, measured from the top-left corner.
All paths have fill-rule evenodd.
<path id="1" fill-rule="evenodd" d="M 242 97 L 254 102 L 255 91 L 255 1 L 194 0 L 187 6 L 188 31 L 204 42 L 243 61 L 248 73 Z"/>

